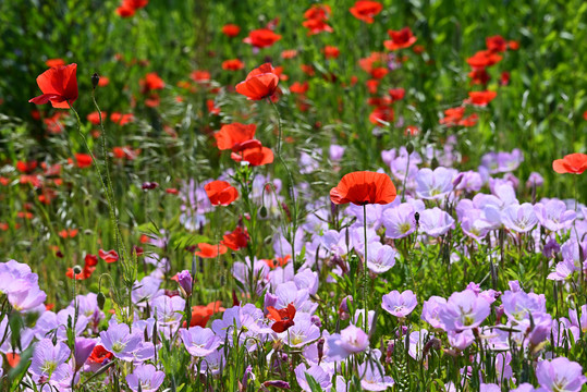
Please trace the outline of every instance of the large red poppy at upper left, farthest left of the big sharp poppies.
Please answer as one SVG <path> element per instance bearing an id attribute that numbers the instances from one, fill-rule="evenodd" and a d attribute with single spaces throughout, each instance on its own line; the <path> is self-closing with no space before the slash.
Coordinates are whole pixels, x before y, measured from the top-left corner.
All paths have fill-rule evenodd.
<path id="1" fill-rule="evenodd" d="M 68 109 L 77 99 L 77 64 L 51 68 L 37 77 L 42 95 L 29 99 L 35 105 L 51 102 L 53 108 Z"/>

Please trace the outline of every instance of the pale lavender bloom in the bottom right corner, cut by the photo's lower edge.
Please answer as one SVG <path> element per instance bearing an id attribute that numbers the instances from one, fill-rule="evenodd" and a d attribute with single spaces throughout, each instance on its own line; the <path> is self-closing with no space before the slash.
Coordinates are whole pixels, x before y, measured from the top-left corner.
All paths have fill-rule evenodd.
<path id="1" fill-rule="evenodd" d="M 579 392 L 587 382 L 580 365 L 565 357 L 538 363 L 536 378 L 549 392 Z"/>

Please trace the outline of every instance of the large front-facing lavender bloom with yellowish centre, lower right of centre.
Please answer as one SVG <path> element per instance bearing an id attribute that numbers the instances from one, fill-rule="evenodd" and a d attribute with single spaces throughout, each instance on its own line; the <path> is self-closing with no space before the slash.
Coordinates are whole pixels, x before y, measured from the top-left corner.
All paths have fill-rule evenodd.
<path id="1" fill-rule="evenodd" d="M 460 332 L 479 327 L 490 313 L 490 304 L 485 298 L 472 290 L 465 290 L 449 297 L 440 308 L 439 317 L 447 331 Z"/>

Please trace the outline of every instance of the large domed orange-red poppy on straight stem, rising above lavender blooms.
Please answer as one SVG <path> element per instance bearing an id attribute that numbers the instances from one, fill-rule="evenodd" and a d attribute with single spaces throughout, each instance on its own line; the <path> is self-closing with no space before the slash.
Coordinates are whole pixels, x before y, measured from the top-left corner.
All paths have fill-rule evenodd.
<path id="1" fill-rule="evenodd" d="M 389 175 L 371 171 L 348 173 L 342 177 L 339 185 L 330 189 L 330 199 L 338 205 L 386 205 L 393 201 L 395 196 L 395 186 Z"/>

